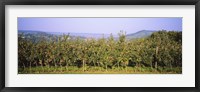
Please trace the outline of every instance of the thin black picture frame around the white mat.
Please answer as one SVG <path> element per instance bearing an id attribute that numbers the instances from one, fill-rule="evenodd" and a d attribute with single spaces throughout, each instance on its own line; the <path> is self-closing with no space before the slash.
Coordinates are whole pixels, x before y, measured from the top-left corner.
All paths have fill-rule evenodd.
<path id="1" fill-rule="evenodd" d="M 6 5 L 195 5 L 195 87 L 5 87 Z M 1 0 L 0 1 L 0 91 L 1 92 L 200 92 L 199 40 L 200 0 Z"/>

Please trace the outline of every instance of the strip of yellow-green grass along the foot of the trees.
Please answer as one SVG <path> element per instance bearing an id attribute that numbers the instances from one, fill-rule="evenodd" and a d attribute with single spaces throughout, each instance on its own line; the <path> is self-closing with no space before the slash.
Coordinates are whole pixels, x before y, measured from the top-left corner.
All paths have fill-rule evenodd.
<path id="1" fill-rule="evenodd" d="M 127 67 L 104 69 L 102 67 L 86 67 L 78 68 L 74 66 L 69 67 L 31 67 L 19 68 L 18 74 L 181 74 L 180 67 L 172 69 L 152 69 L 151 67 Z"/>

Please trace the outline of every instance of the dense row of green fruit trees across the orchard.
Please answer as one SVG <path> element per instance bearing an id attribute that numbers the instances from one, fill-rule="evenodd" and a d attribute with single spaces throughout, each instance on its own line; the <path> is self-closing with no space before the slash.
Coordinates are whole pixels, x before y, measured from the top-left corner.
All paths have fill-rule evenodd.
<path id="1" fill-rule="evenodd" d="M 49 71 L 51 67 L 61 68 L 55 71 L 78 67 L 83 72 L 92 67 L 101 67 L 105 71 L 116 67 L 126 71 L 127 67 L 138 67 L 143 71 L 143 68 L 150 67 L 171 72 L 182 67 L 182 32 L 162 30 L 150 37 L 132 40 L 127 40 L 123 31 L 120 31 L 118 40 L 112 34 L 108 39 L 71 39 L 68 34 L 37 42 L 20 34 L 18 60 L 18 67 L 29 68 L 29 71 L 34 67 L 48 67 Z"/>

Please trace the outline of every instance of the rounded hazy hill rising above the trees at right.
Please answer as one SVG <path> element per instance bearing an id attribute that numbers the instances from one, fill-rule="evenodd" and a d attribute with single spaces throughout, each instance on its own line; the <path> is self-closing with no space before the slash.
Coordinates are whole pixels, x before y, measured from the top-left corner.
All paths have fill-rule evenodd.
<path id="1" fill-rule="evenodd" d="M 127 34 L 127 39 L 134 39 L 134 38 L 144 38 L 150 36 L 152 33 L 156 32 L 155 30 L 141 30 L 136 33 Z"/>

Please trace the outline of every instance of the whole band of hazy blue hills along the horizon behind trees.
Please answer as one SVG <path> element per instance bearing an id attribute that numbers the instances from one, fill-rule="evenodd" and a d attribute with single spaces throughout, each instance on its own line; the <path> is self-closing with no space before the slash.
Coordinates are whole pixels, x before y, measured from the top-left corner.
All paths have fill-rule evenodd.
<path id="1" fill-rule="evenodd" d="M 144 38 L 150 36 L 153 32 L 156 32 L 154 30 L 141 30 L 136 33 L 127 34 L 127 39 L 135 39 L 135 38 Z M 45 32 L 45 31 L 35 31 L 35 30 L 18 30 L 18 34 L 25 34 L 26 37 L 30 38 L 30 35 L 34 37 L 52 37 L 52 36 L 60 36 L 60 35 L 67 35 L 69 34 L 71 38 L 80 37 L 82 39 L 87 38 L 108 38 L 110 37 L 110 34 L 98 34 L 98 33 L 70 33 L 70 32 Z M 113 35 L 114 39 L 118 39 L 118 35 Z"/>

